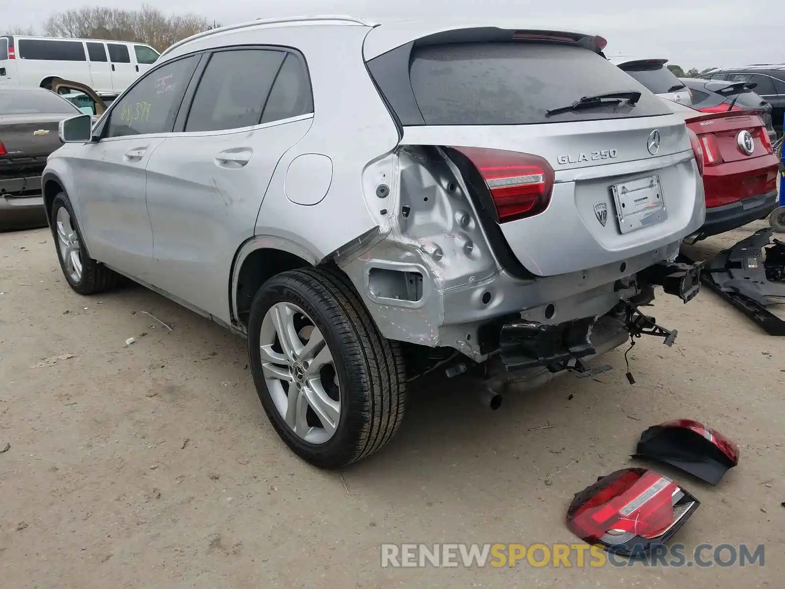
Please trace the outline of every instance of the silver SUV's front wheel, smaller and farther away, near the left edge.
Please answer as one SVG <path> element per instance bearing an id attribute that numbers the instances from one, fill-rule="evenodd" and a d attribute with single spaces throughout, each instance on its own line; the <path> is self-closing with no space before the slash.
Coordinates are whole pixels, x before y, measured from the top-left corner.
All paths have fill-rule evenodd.
<path id="1" fill-rule="evenodd" d="M 60 269 L 71 288 L 79 294 L 97 294 L 117 286 L 119 275 L 87 255 L 79 223 L 65 192 L 54 197 L 50 225 Z"/>

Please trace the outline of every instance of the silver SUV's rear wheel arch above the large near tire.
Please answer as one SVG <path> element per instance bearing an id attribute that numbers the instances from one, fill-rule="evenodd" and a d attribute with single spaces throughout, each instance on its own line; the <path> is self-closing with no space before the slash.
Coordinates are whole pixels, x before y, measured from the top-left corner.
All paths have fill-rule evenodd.
<path id="1" fill-rule="evenodd" d="M 277 236 L 255 236 L 235 254 L 229 284 L 232 324 L 245 331 L 254 295 L 266 280 L 297 268 L 313 267 L 319 260 L 307 247 Z"/>

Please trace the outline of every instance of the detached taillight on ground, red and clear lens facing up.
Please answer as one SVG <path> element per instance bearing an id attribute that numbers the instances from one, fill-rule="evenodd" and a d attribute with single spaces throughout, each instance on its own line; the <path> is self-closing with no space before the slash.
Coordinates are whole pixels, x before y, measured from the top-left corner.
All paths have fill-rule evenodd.
<path id="1" fill-rule="evenodd" d="M 576 493 L 567 527 L 586 543 L 638 556 L 670 540 L 699 505 L 670 478 L 627 468 Z"/>

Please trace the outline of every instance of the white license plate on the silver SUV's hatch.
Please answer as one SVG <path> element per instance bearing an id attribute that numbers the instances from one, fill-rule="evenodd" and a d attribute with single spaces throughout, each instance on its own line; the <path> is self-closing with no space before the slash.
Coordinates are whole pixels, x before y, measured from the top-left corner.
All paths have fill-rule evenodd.
<path id="1" fill-rule="evenodd" d="M 656 225 L 667 218 L 659 175 L 612 185 L 611 192 L 622 233 Z"/>

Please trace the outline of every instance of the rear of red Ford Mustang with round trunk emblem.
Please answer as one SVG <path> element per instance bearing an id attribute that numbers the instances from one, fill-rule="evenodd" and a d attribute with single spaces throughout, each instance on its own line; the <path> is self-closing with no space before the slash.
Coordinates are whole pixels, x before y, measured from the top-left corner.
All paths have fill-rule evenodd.
<path id="1" fill-rule="evenodd" d="M 777 207 L 780 162 L 758 112 L 705 114 L 681 104 L 670 106 L 684 115 L 703 153 L 698 166 L 703 168 L 706 222 L 685 241 L 695 243 L 767 217 Z"/>

